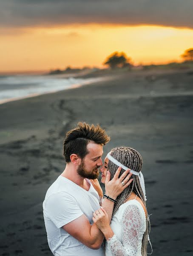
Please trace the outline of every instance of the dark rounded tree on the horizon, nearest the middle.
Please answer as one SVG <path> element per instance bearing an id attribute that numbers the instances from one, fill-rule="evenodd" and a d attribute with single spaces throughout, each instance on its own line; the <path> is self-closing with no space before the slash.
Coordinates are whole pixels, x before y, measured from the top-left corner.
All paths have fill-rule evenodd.
<path id="1" fill-rule="evenodd" d="M 113 52 L 111 55 L 109 55 L 104 65 L 108 65 L 111 69 L 114 69 L 116 67 L 127 67 L 131 66 L 131 58 L 128 58 L 125 52 Z"/>

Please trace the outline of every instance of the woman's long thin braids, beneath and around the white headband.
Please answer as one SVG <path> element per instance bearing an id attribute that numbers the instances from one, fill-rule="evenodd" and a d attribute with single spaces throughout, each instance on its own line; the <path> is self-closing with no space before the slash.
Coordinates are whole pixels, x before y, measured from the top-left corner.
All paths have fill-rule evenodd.
<path id="1" fill-rule="evenodd" d="M 124 166 L 127 166 L 128 169 L 132 169 L 135 172 L 140 172 L 141 171 L 141 169 L 142 169 L 142 157 L 139 154 L 139 152 L 137 152 L 135 149 L 127 148 L 127 147 L 113 148 L 111 150 L 110 154 L 111 154 L 112 157 L 114 157 L 117 161 L 122 163 Z M 108 170 L 111 173 L 111 179 L 114 177 L 115 172 L 116 172 L 118 167 L 119 166 L 117 166 L 116 164 L 114 164 L 110 160 L 108 161 Z M 125 172 L 124 169 L 121 170 L 119 177 L 123 174 L 123 172 Z M 125 201 L 127 201 L 129 196 L 131 195 L 132 191 L 135 192 L 136 195 L 139 196 L 139 198 L 141 198 L 141 200 L 143 201 L 143 203 L 145 205 L 145 209 L 147 211 L 146 204 L 145 204 L 145 198 L 144 198 L 142 188 L 141 188 L 140 183 L 139 183 L 139 176 L 132 175 L 131 178 L 133 179 L 133 182 L 128 187 L 126 187 L 123 190 L 123 192 L 116 198 L 117 201 L 114 204 L 112 217 L 118 211 L 119 207 L 122 204 L 124 204 Z M 148 211 L 147 211 L 147 216 L 148 216 Z M 149 218 L 146 218 L 146 231 L 145 231 L 145 233 L 143 235 L 143 239 L 142 239 L 142 256 L 147 255 L 147 245 L 148 245 L 148 234 L 149 234 L 149 232 L 150 232 L 150 221 L 149 221 Z"/>

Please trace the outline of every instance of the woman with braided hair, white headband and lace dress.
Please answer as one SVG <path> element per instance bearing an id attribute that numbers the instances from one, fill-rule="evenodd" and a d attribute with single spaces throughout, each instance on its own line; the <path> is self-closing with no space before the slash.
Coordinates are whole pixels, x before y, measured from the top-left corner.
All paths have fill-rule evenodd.
<path id="1" fill-rule="evenodd" d="M 133 182 L 117 198 L 108 198 L 115 201 L 111 225 L 102 208 L 93 213 L 93 221 L 105 236 L 106 256 L 145 256 L 149 240 L 149 218 L 145 204 L 145 183 L 141 173 L 142 157 L 133 148 L 112 149 L 100 168 L 101 182 L 105 183 L 108 171 L 112 179 L 119 166 L 122 167 L 120 175 L 128 168 L 131 169 Z M 125 186 L 124 180 L 122 185 Z M 108 195 L 104 197 L 107 198 Z"/>

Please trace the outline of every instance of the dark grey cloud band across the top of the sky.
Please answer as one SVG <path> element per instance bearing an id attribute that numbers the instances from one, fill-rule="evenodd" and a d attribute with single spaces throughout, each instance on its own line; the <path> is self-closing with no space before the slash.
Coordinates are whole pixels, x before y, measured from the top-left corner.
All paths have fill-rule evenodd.
<path id="1" fill-rule="evenodd" d="M 0 26 L 70 23 L 193 28 L 193 0 L 1 0 Z"/>

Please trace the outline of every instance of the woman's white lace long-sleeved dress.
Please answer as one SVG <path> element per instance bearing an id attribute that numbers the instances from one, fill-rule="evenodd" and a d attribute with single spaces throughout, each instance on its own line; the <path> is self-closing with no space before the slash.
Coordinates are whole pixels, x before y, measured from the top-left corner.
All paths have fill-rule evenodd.
<path id="1" fill-rule="evenodd" d="M 146 217 L 142 205 L 136 200 L 122 204 L 111 220 L 114 236 L 108 239 L 106 256 L 141 256 L 142 239 L 146 230 Z"/>

